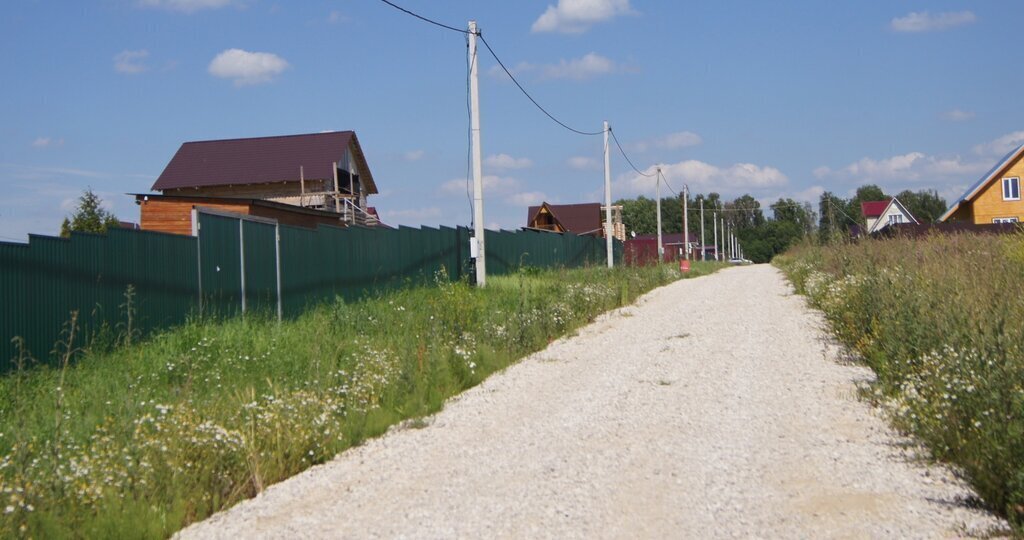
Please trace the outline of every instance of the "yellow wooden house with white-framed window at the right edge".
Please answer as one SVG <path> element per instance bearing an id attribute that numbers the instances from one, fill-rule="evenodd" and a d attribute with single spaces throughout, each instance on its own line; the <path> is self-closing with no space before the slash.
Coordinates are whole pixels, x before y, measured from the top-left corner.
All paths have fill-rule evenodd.
<path id="1" fill-rule="evenodd" d="M 1021 178 L 1024 178 L 1024 144 L 1008 154 L 972 185 L 939 217 L 939 221 L 975 224 L 1024 221 Z"/>

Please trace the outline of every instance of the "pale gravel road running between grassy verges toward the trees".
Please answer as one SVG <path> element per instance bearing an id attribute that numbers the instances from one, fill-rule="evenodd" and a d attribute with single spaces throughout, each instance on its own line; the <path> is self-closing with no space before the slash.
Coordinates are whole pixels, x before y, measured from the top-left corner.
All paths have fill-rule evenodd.
<path id="1" fill-rule="evenodd" d="M 856 399 L 768 265 L 652 291 L 181 538 L 955 537 L 1001 530 Z"/>

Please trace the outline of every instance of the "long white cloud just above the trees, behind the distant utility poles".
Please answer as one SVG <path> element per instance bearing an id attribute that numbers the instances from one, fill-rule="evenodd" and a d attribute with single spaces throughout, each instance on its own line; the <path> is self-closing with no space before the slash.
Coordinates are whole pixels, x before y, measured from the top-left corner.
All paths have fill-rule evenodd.
<path id="1" fill-rule="evenodd" d="M 663 164 L 662 173 L 677 192 L 682 185 L 688 184 L 690 193 L 718 192 L 724 194 L 742 195 L 768 188 L 777 188 L 788 183 L 790 179 L 775 167 L 760 166 L 753 163 L 736 163 L 727 167 L 719 167 L 697 160 L 686 160 L 679 163 Z M 615 181 L 614 197 L 654 195 L 655 166 L 651 165 L 645 174 L 628 173 Z M 625 192 L 625 193 L 624 193 Z M 663 188 L 662 195 L 667 190 Z"/>

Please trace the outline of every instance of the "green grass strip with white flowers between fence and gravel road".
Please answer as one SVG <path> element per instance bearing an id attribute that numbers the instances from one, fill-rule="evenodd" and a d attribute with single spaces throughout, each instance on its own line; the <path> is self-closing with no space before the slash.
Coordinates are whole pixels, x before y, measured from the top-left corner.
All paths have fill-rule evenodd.
<path id="1" fill-rule="evenodd" d="M 415 419 L 447 398 L 675 279 L 671 265 L 523 271 L 484 289 L 440 276 L 281 324 L 196 321 L 11 373 L 0 537 L 167 537 L 397 422 L 424 426 Z M 69 335 L 58 348 L 78 346 Z"/>

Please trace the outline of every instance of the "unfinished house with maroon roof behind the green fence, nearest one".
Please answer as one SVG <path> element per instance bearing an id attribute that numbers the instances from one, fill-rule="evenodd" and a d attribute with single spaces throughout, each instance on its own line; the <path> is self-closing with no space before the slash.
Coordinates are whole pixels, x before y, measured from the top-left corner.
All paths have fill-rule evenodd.
<path id="1" fill-rule="evenodd" d="M 367 204 L 377 184 L 353 131 L 185 142 L 153 190 L 162 197 L 136 197 L 141 226 L 151 231 L 190 231 L 193 203 L 251 215 L 291 212 L 283 223 L 379 223 Z"/>

